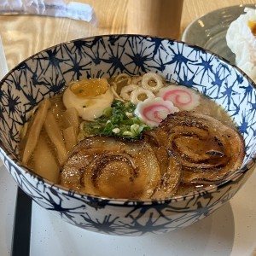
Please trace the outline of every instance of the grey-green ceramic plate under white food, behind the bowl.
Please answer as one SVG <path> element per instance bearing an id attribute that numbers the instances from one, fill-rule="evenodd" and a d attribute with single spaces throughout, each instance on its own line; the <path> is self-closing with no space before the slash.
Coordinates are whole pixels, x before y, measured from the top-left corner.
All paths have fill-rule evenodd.
<path id="1" fill-rule="evenodd" d="M 211 50 L 235 64 L 235 55 L 228 48 L 225 36 L 230 23 L 244 13 L 245 7 L 255 8 L 256 4 L 230 6 L 201 16 L 187 26 L 182 40 Z"/>

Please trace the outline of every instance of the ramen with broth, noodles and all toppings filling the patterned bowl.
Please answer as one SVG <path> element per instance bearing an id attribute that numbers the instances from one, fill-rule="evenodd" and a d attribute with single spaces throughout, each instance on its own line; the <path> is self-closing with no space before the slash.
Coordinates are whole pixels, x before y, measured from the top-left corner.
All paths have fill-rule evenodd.
<path id="1" fill-rule="evenodd" d="M 155 73 L 68 84 L 27 126 L 20 159 L 33 172 L 112 198 L 183 195 L 221 182 L 245 154 L 223 108 Z"/>

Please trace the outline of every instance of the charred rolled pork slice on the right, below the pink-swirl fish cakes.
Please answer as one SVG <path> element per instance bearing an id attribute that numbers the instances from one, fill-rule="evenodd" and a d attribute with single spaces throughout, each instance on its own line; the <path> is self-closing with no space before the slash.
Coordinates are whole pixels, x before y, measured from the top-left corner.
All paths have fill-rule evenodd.
<path id="1" fill-rule="evenodd" d="M 145 134 L 177 156 L 183 183 L 221 181 L 241 166 L 245 155 L 238 131 L 200 113 L 172 113 Z"/>

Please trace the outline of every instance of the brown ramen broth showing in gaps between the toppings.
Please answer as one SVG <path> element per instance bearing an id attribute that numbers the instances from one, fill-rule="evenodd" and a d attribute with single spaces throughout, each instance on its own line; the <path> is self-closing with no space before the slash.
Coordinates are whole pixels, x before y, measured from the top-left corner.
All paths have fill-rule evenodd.
<path id="1" fill-rule="evenodd" d="M 141 86 L 141 77 L 128 77 L 127 75 L 124 75 L 123 78 L 120 78 L 118 83 L 116 83 L 116 78 L 112 78 L 112 79 L 108 79 L 108 84 L 110 84 L 110 86 L 113 87 L 113 100 L 119 101 L 122 100 L 123 102 L 128 102 L 127 100 L 124 100 L 120 97 L 121 94 L 121 90 L 127 86 L 127 84 L 129 85 L 129 83 L 131 83 L 131 81 L 138 81 L 138 85 L 137 86 Z M 114 86 L 113 86 L 114 84 Z M 150 80 L 148 82 L 149 86 L 155 86 L 156 82 L 153 80 Z M 164 81 L 164 87 L 168 86 L 169 83 L 167 83 L 166 81 Z M 179 86 L 179 85 L 177 85 Z M 63 95 L 64 95 L 64 91 L 61 91 L 59 94 L 57 94 L 56 96 L 52 96 L 49 99 L 50 102 L 50 108 L 49 111 L 53 114 L 54 119 L 56 120 L 56 123 L 58 125 L 58 127 L 60 128 L 61 133 L 63 134 L 63 130 L 67 129 L 67 119 L 65 119 L 65 116 L 63 113 L 65 113 L 65 111 L 67 110 L 65 104 L 63 103 Z M 131 92 L 130 92 L 131 93 Z M 236 130 L 236 126 L 234 125 L 233 121 L 230 119 L 230 116 L 224 111 L 223 108 L 221 108 L 220 106 L 218 106 L 217 103 L 213 102 L 212 100 L 210 100 L 209 98 L 207 98 L 207 96 L 203 96 L 198 92 L 195 92 L 196 95 L 200 96 L 200 103 L 198 104 L 198 106 L 196 106 L 195 108 L 189 110 L 192 111 L 193 113 L 200 113 L 200 114 L 205 114 L 207 116 L 211 116 L 214 119 L 218 119 L 219 121 L 221 121 L 224 125 L 229 125 L 230 127 L 232 127 L 233 129 Z M 147 99 L 147 95 L 142 94 L 140 96 L 138 96 L 138 100 L 141 102 L 143 100 Z M 137 106 L 137 103 L 133 104 L 134 106 Z M 37 111 L 35 111 L 35 113 L 37 113 Z M 35 114 L 34 114 L 35 115 Z M 20 158 L 22 159 L 22 154 L 24 152 L 24 148 L 26 148 L 26 143 L 28 140 L 28 137 L 30 137 L 30 131 L 32 130 L 31 128 L 31 124 L 33 122 L 33 119 L 35 119 L 34 115 L 32 115 L 31 120 L 25 125 L 23 131 L 22 131 L 22 136 L 20 139 Z M 85 137 L 87 137 L 88 135 L 84 134 L 83 132 L 83 128 L 84 125 L 86 124 L 94 124 L 95 120 L 84 120 L 81 118 L 81 116 L 78 116 L 79 119 L 79 125 L 77 127 L 77 131 L 75 131 L 75 135 L 76 135 L 76 144 L 79 143 L 79 141 L 84 140 Z M 148 125 L 147 129 L 151 130 L 154 129 L 154 127 L 149 127 Z M 68 132 L 68 131 L 67 131 Z M 120 136 L 122 137 L 122 136 Z M 137 140 L 139 140 L 140 138 L 137 137 Z M 40 153 L 38 152 L 38 145 L 35 146 L 29 160 L 26 162 L 26 166 L 28 168 L 30 168 L 33 172 L 38 173 L 40 176 L 42 177 L 46 177 L 47 179 L 49 179 L 50 181 L 54 182 L 54 183 L 61 183 L 61 175 L 60 175 L 60 170 L 61 170 L 61 166 L 63 165 L 63 162 L 60 162 L 59 160 L 59 156 L 56 153 L 56 148 L 55 145 L 53 145 L 52 140 L 49 138 L 49 134 L 46 131 L 46 125 L 43 125 L 41 131 L 40 131 L 40 135 L 39 135 L 39 145 L 43 145 L 42 147 L 44 148 L 42 150 L 42 152 L 40 151 Z M 75 146 L 75 145 L 73 145 Z M 66 148 L 67 150 L 67 156 L 69 156 L 71 154 L 71 152 L 73 151 L 73 146 L 69 146 L 69 148 Z M 40 149 L 41 150 L 41 149 Z M 42 154 L 46 154 L 45 152 L 48 152 L 47 155 L 43 156 Z M 40 170 L 37 170 L 37 168 L 35 167 L 37 165 L 37 161 L 38 161 L 38 156 L 35 157 L 35 154 L 42 156 L 42 158 L 45 158 L 45 160 L 43 160 L 43 162 L 45 162 L 46 166 L 43 166 Z M 49 157 L 50 154 L 50 157 Z M 48 159 L 49 158 L 53 158 L 53 159 Z M 42 159 L 39 159 L 42 160 Z M 46 173 L 44 175 L 44 170 L 47 169 L 47 165 L 49 164 L 48 162 L 52 161 L 52 163 L 50 163 L 50 166 L 52 168 L 55 169 L 54 174 L 51 173 L 51 170 L 49 170 L 49 173 Z M 41 161 L 42 162 L 42 161 Z M 40 163 L 39 165 L 42 166 L 42 163 Z M 49 169 L 49 168 L 48 168 Z M 63 183 L 61 183 L 63 185 Z M 175 192 L 175 195 L 183 195 L 186 194 L 190 191 L 195 191 L 196 189 L 202 189 L 206 186 L 211 186 L 211 183 L 183 183 L 180 182 L 178 185 L 178 188 Z M 84 184 L 84 186 L 86 186 L 86 183 Z M 68 185 L 67 185 L 68 187 Z M 71 189 L 73 189 L 73 187 L 69 187 Z M 86 192 L 86 190 L 79 189 L 79 188 L 75 188 L 76 190 L 79 190 L 81 192 Z"/>

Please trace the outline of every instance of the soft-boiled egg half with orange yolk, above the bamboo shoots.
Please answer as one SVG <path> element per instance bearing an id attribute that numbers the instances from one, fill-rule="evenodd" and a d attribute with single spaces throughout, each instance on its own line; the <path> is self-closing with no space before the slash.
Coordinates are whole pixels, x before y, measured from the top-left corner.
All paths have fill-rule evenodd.
<path id="1" fill-rule="evenodd" d="M 100 117 L 111 106 L 113 92 L 107 79 L 81 79 L 68 85 L 63 94 L 66 108 L 76 108 L 84 120 Z"/>

